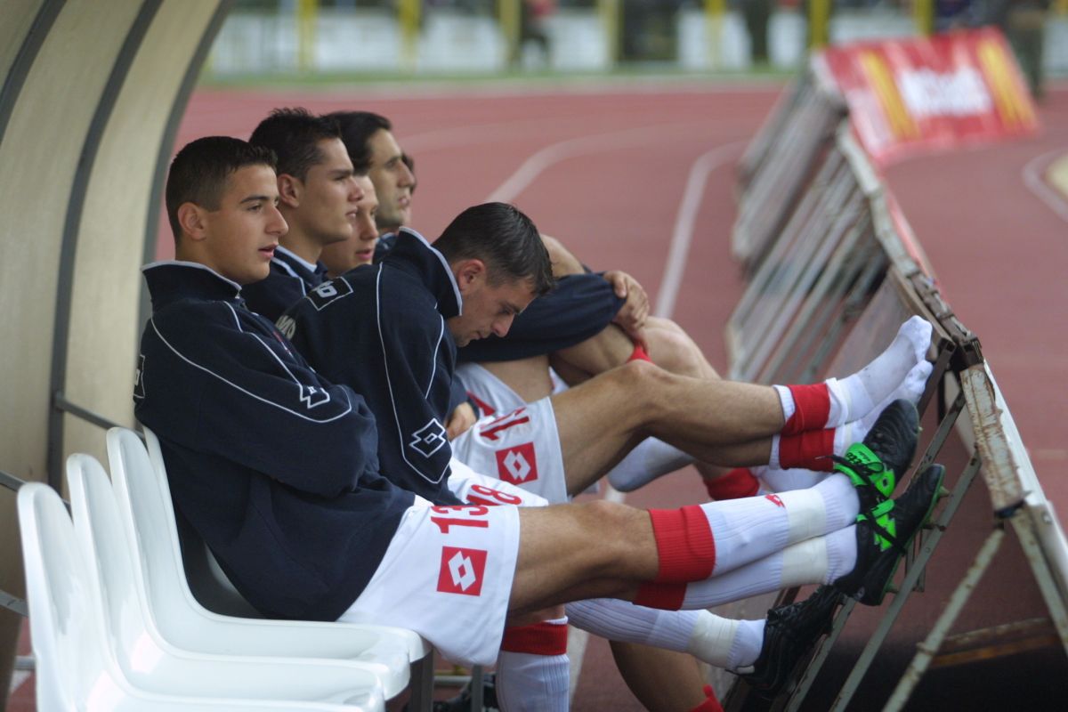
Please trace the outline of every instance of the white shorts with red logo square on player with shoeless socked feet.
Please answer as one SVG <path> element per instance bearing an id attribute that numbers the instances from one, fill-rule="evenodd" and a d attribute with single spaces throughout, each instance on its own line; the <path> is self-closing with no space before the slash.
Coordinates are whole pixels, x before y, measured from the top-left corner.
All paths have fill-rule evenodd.
<path id="1" fill-rule="evenodd" d="M 453 457 L 475 472 L 545 497 L 567 502 L 564 456 L 549 398 L 481 418 L 452 442 Z"/>

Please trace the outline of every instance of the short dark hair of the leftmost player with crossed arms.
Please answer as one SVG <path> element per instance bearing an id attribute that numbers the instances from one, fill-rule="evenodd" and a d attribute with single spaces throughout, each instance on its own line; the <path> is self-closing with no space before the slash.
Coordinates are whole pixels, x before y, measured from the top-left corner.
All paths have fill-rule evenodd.
<path id="1" fill-rule="evenodd" d="M 178 208 L 183 203 L 218 210 L 226 180 L 246 165 L 276 167 L 270 148 L 254 146 L 229 136 L 209 136 L 191 141 L 171 161 L 167 174 L 167 219 L 177 240 L 182 235 Z"/>

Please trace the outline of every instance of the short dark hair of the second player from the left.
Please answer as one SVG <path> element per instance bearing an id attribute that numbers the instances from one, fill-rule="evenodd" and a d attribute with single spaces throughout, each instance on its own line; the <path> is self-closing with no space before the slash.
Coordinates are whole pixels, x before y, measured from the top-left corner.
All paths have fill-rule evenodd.
<path id="1" fill-rule="evenodd" d="M 249 143 L 266 146 L 278 156 L 278 172 L 303 180 L 313 165 L 323 162 L 319 141 L 340 139 L 337 122 L 315 116 L 307 109 L 274 109 L 252 131 Z"/>

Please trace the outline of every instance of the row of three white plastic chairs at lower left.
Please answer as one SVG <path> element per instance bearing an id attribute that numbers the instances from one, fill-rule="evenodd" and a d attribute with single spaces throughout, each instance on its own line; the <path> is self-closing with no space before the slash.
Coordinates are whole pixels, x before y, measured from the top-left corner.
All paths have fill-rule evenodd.
<path id="1" fill-rule="evenodd" d="M 50 488 L 19 490 L 37 709 L 384 709 L 429 646 L 400 629 L 200 606 L 150 443 L 156 463 L 135 432 L 109 431 L 113 482 L 92 457 L 68 459 L 73 522 Z"/>

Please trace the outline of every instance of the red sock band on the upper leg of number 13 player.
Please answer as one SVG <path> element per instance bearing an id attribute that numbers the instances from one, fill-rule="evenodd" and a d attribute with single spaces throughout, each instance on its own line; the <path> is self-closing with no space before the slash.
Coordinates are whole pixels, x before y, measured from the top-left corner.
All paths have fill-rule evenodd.
<path id="1" fill-rule="evenodd" d="M 697 505 L 680 509 L 650 509 L 657 540 L 657 583 L 703 581 L 716 567 L 716 541 L 708 518 Z"/>

